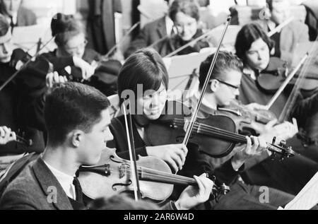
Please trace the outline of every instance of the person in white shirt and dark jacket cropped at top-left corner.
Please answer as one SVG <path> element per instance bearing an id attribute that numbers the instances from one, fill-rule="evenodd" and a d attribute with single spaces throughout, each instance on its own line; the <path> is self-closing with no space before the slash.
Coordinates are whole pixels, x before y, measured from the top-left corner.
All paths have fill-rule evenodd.
<path id="1" fill-rule="evenodd" d="M 0 0 L 0 13 L 6 16 L 11 28 L 37 24 L 33 11 L 21 6 L 22 0 Z"/>

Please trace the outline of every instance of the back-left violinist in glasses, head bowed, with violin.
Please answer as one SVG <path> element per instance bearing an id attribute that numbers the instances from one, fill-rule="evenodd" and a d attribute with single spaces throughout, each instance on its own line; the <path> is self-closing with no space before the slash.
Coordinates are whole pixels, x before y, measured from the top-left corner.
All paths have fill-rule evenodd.
<path id="1" fill-rule="evenodd" d="M 58 13 L 52 18 L 51 28 L 57 49 L 39 58 L 49 61 L 52 70 L 58 71 L 61 76 L 72 76 L 79 81 L 84 79 L 85 83 L 98 88 L 105 95 L 113 95 L 116 91 L 117 72 L 121 66 L 119 61 L 109 61 L 109 64 L 95 70 L 90 64 L 94 61 L 98 64 L 102 56 L 86 47 L 88 42 L 83 25 L 73 16 Z"/>

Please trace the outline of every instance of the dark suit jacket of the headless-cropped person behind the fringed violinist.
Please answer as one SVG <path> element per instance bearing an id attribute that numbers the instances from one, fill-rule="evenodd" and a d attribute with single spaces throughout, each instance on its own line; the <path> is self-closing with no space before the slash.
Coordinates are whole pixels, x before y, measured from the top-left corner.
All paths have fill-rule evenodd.
<path id="1" fill-rule="evenodd" d="M 163 37 L 167 36 L 167 26 L 165 24 L 165 16 L 151 23 L 148 23 L 140 31 L 136 39 L 131 42 L 130 47 L 125 53 L 125 57 L 129 57 L 137 50 L 148 47 Z"/>

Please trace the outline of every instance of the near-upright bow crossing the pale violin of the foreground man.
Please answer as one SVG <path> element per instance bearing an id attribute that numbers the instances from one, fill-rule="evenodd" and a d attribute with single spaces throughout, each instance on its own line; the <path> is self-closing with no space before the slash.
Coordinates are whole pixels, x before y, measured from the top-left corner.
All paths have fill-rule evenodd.
<path id="1" fill-rule="evenodd" d="M 128 105 L 129 105 L 129 120 L 127 119 L 125 103 L 123 103 L 123 111 L 124 111 L 128 148 L 129 148 L 129 158 L 131 162 L 131 176 L 132 176 L 132 181 L 134 184 L 134 196 L 135 196 L 135 201 L 139 201 L 141 199 L 141 190 L 140 190 L 140 184 L 139 184 L 138 167 L 136 162 L 136 149 L 134 144 L 134 131 L 132 129 L 130 100 L 128 100 Z"/>

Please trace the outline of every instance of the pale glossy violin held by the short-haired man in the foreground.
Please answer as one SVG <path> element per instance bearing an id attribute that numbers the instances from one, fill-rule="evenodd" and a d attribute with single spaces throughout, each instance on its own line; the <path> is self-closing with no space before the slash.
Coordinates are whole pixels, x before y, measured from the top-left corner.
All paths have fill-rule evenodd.
<path id="1" fill-rule="evenodd" d="M 174 184 L 197 186 L 193 178 L 172 175 L 167 163 L 158 158 L 141 157 L 137 165 L 142 199 L 165 201 L 172 194 Z M 132 175 L 130 161 L 119 158 L 114 149 L 108 148 L 102 151 L 98 165 L 81 166 L 78 170 L 83 194 L 93 200 L 134 191 Z M 217 199 L 220 194 L 227 194 L 228 191 L 225 185 L 214 185 L 211 198 Z"/>

